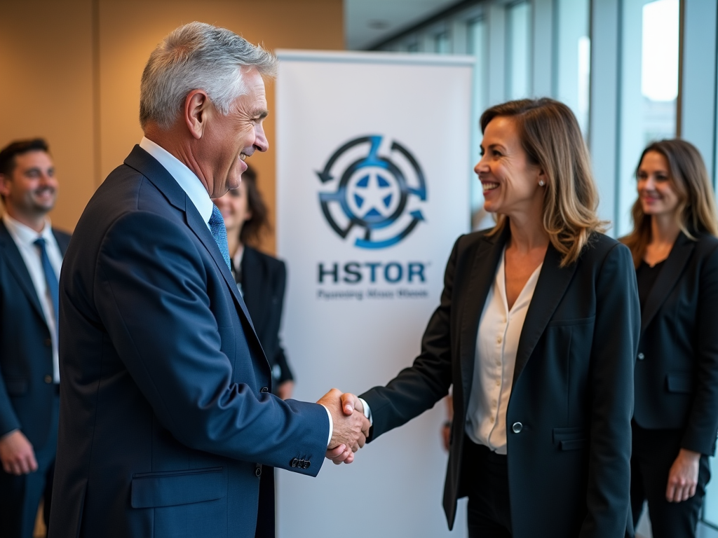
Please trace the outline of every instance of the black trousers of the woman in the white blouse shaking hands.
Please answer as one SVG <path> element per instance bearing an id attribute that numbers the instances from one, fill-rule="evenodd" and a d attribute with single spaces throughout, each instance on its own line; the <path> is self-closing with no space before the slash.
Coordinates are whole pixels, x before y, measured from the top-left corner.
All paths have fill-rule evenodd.
<path id="1" fill-rule="evenodd" d="M 469 538 L 511 538 L 506 456 L 464 440 L 462 472 L 469 495 Z"/>

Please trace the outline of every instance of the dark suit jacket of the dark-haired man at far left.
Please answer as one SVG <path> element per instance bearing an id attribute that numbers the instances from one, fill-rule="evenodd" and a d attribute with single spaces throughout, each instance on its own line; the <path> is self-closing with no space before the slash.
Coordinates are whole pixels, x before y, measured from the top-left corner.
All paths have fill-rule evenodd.
<path id="1" fill-rule="evenodd" d="M 70 235 L 52 229 L 65 255 Z M 52 341 L 22 255 L 0 220 L 0 436 L 22 433 L 35 450 L 52 429 Z"/>

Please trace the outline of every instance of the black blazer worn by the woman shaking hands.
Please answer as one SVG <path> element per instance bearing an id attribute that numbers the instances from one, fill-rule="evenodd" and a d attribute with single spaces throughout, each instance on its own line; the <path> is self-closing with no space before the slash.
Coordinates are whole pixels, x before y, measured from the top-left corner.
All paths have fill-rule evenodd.
<path id="1" fill-rule="evenodd" d="M 454 385 L 449 527 L 466 494 L 462 457 L 479 319 L 508 235 L 507 227 L 495 237 L 475 232 L 457 240 L 421 354 L 386 387 L 362 395 L 373 440 Z M 633 536 L 630 418 L 640 331 L 633 263 L 628 248 L 599 234 L 577 263 L 559 268 L 560 260 L 549 245 L 516 354 L 506 415 L 513 536 Z"/>

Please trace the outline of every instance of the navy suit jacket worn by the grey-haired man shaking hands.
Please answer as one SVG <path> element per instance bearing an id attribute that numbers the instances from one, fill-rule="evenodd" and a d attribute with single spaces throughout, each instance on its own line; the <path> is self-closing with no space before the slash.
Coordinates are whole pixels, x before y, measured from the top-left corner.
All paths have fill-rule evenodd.
<path id="1" fill-rule="evenodd" d="M 52 538 L 250 538 L 261 464 L 319 471 L 327 412 L 271 395 L 207 225 L 139 146 L 80 217 L 60 307 Z"/>

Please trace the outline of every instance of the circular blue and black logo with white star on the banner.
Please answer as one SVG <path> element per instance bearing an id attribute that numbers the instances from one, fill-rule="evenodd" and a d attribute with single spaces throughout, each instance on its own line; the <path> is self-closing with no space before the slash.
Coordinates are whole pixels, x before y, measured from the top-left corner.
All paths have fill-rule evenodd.
<path id="1" fill-rule="evenodd" d="M 384 248 L 396 245 L 424 220 L 420 204 L 426 202 L 426 181 L 414 156 L 397 141 L 388 155 L 379 154 L 383 137 L 361 136 L 338 148 L 317 172 L 327 222 L 345 239 L 358 227 L 355 245 Z"/>

